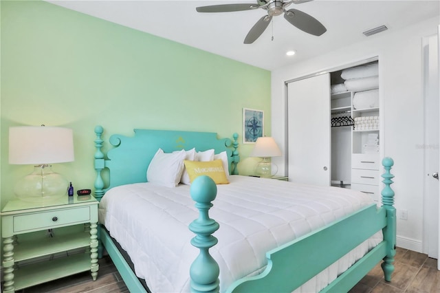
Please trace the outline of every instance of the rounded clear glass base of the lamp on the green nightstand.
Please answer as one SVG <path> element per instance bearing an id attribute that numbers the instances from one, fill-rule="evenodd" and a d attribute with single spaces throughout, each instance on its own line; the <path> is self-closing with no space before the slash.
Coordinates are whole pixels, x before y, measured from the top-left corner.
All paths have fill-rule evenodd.
<path id="1" fill-rule="evenodd" d="M 34 166 L 34 172 L 17 182 L 14 193 L 25 202 L 45 202 L 67 195 L 69 182 L 50 165 Z"/>

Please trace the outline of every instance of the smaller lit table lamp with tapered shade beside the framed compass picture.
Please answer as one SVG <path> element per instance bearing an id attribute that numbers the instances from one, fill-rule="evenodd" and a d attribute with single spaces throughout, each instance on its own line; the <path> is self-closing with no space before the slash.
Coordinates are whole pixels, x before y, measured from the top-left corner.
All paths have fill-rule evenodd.
<path id="1" fill-rule="evenodd" d="M 268 136 L 257 138 L 250 156 L 263 158 L 263 160 L 256 165 L 255 169 L 256 174 L 260 177 L 272 177 L 272 174 L 278 172 L 278 166 L 272 164 L 269 160 L 269 158 L 281 156 L 281 150 L 278 148 L 274 138 Z"/>

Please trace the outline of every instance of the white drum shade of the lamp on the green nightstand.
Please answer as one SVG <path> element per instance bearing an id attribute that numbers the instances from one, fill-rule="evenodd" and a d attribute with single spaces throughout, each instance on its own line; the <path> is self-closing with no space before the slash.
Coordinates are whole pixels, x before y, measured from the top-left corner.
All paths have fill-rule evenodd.
<path id="1" fill-rule="evenodd" d="M 10 164 L 52 164 L 72 161 L 74 161 L 72 129 L 47 126 L 10 127 Z"/>

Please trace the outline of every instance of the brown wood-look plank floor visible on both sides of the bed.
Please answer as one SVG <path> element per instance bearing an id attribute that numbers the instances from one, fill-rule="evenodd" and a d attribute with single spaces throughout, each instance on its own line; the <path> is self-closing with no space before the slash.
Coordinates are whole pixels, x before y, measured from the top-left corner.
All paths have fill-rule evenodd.
<path id="1" fill-rule="evenodd" d="M 29 287 L 17 293 L 129 292 L 108 257 L 100 259 L 99 264 L 99 275 L 96 281 L 91 281 L 90 273 L 87 272 Z M 382 268 L 377 265 L 350 291 L 350 293 L 379 292 L 440 292 L 440 271 L 437 270 L 437 260 L 428 258 L 426 254 L 397 248 L 395 272 L 391 283 L 384 281 Z"/>

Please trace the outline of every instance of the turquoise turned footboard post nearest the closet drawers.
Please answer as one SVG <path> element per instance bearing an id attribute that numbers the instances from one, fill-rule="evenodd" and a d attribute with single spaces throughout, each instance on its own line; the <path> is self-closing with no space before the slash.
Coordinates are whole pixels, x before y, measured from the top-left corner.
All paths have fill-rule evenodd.
<path id="1" fill-rule="evenodd" d="M 390 173 L 394 161 L 391 158 L 384 158 L 382 160 L 385 173 L 382 175 L 385 187 L 382 190 L 382 207 L 386 209 L 387 225 L 384 228 L 384 240 L 386 241 L 386 257 L 382 263 L 382 270 L 384 270 L 385 281 L 391 281 L 391 274 L 394 271 L 394 257 L 396 255 L 396 209 L 394 205 L 394 191 L 390 185 L 393 184 L 394 175 Z"/>

